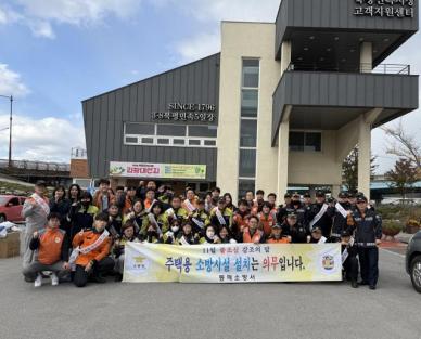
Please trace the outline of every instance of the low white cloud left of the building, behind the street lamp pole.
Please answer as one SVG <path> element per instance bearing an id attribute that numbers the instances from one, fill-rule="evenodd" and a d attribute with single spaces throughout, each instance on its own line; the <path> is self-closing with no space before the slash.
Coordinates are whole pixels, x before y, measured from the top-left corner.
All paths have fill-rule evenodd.
<path id="1" fill-rule="evenodd" d="M 0 114 L 0 130 L 9 126 L 9 115 Z M 67 119 L 13 117 L 13 159 L 69 162 L 71 148 L 85 147 L 84 127 Z M 0 131 L 0 158 L 9 152 L 9 131 Z"/>

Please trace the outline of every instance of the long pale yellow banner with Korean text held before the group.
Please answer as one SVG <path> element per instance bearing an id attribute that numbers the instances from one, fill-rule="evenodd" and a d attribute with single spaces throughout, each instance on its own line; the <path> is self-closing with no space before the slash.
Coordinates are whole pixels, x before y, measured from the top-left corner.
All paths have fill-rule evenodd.
<path id="1" fill-rule="evenodd" d="M 126 283 L 266 283 L 342 279 L 341 244 L 128 243 Z"/>

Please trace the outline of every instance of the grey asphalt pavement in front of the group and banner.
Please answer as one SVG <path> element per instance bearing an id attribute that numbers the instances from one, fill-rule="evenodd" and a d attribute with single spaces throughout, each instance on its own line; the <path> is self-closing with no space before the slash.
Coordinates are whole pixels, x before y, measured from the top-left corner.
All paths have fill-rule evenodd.
<path id="1" fill-rule="evenodd" d="M 421 338 L 421 295 L 381 250 L 379 288 L 345 283 L 69 284 L 34 289 L 0 260 L 0 338 Z"/>

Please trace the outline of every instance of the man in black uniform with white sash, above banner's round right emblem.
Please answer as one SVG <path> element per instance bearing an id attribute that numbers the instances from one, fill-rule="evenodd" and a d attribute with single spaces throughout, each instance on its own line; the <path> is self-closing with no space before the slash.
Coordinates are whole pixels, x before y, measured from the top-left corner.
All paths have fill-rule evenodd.
<path id="1" fill-rule="evenodd" d="M 323 236 L 330 238 L 334 212 L 335 208 L 326 204 L 324 193 L 321 191 L 316 192 L 316 203 L 307 209 L 309 231 L 311 232 L 314 227 L 318 226 L 321 229 Z"/>

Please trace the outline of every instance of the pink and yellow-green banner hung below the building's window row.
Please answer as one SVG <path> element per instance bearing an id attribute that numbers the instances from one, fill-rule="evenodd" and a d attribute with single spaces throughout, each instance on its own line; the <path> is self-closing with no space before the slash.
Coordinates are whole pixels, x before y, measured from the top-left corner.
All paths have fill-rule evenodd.
<path id="1" fill-rule="evenodd" d="M 110 162 L 110 177 L 206 179 L 206 165 Z"/>

